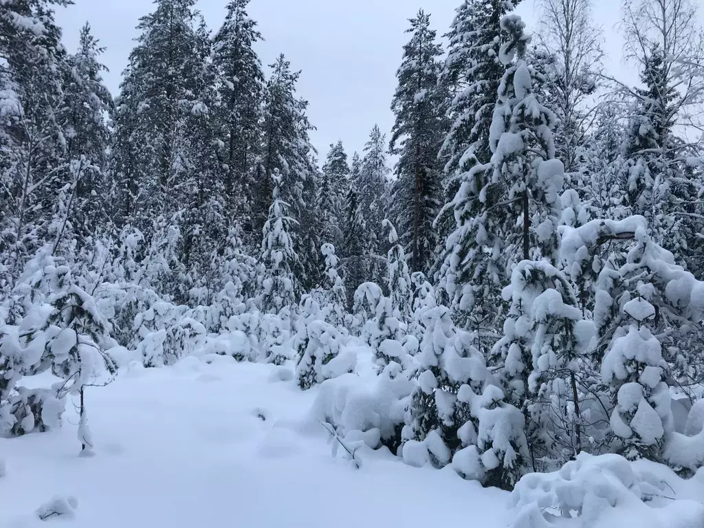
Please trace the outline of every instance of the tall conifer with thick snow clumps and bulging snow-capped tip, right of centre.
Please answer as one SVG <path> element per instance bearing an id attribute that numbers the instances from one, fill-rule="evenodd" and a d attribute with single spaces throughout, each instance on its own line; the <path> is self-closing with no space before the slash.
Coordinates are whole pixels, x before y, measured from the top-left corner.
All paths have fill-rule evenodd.
<path id="1" fill-rule="evenodd" d="M 536 99 L 533 87 L 540 78 L 524 60 L 524 24 L 509 14 L 501 27 L 508 41 L 499 58 L 508 68 L 491 125 L 493 155 L 490 163 L 474 165 L 455 196 L 458 227 L 441 269 L 458 320 L 490 340 L 496 339 L 491 329 L 499 317 L 498 295 L 512 265 L 557 258 L 564 177 L 562 163 L 553 158 L 554 115 Z"/>

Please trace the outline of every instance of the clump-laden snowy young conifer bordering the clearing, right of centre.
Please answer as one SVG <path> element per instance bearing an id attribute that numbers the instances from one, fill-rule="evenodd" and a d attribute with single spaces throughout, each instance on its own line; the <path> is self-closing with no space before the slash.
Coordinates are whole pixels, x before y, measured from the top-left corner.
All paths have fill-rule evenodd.
<path id="1" fill-rule="evenodd" d="M 523 414 L 503 400 L 473 334 L 454 327 L 448 308 L 427 310 L 422 325 L 403 459 L 452 462 L 465 478 L 510 489 L 527 452 Z"/>

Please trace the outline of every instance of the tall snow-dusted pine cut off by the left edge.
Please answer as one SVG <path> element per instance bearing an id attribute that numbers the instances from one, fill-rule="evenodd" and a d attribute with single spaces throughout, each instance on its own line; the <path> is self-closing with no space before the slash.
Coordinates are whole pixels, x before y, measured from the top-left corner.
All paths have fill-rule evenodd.
<path id="1" fill-rule="evenodd" d="M 48 236 L 56 196 L 69 182 L 62 120 L 67 54 L 54 5 L 5 2 L 0 10 L 0 282 L 10 287 Z"/>

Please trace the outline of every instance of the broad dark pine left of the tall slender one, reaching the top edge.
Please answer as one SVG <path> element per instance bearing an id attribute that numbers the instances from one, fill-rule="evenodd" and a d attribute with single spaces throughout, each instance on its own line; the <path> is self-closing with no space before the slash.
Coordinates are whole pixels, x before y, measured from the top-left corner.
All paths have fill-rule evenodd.
<path id="1" fill-rule="evenodd" d="M 137 46 L 123 74 L 115 115 L 113 177 L 122 222 L 152 232 L 191 203 L 197 184 L 189 118 L 208 108 L 203 95 L 203 34 L 195 0 L 157 0 L 139 20 Z M 209 149 L 213 149 L 209 146 Z"/>

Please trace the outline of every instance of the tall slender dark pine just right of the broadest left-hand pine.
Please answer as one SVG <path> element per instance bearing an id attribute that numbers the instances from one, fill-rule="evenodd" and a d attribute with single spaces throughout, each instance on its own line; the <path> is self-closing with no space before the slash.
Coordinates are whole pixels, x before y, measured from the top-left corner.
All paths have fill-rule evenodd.
<path id="1" fill-rule="evenodd" d="M 246 12 L 249 0 L 230 0 L 225 23 L 215 35 L 213 64 L 218 82 L 218 120 L 225 142 L 227 208 L 251 232 L 260 156 L 264 73 L 253 46 L 263 40 Z"/>

